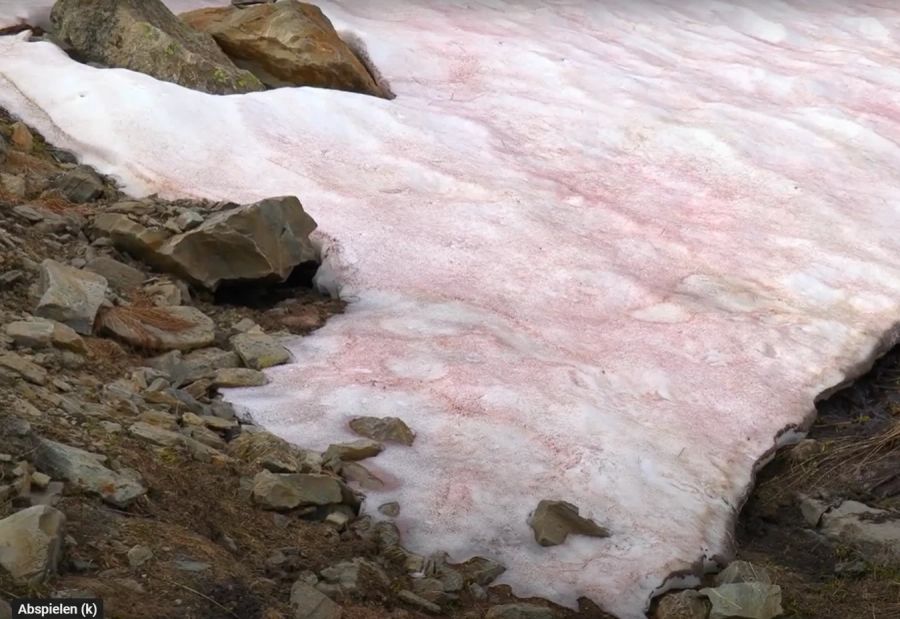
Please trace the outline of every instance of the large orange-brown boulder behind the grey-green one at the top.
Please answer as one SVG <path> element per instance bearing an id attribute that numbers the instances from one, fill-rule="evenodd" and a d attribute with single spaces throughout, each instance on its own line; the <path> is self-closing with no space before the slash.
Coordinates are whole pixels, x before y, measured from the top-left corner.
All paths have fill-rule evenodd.
<path id="1" fill-rule="evenodd" d="M 270 88 L 315 86 L 387 98 L 322 11 L 296 0 L 181 15 Z"/>

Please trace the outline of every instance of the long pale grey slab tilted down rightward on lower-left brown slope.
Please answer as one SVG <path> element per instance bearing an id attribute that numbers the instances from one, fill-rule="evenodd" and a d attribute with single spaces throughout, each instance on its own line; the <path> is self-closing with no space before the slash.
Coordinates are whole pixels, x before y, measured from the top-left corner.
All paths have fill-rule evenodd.
<path id="1" fill-rule="evenodd" d="M 41 439 L 35 464 L 54 477 L 99 495 L 116 507 L 127 507 L 147 490 L 130 477 L 101 464 L 102 456 L 56 441 Z"/>

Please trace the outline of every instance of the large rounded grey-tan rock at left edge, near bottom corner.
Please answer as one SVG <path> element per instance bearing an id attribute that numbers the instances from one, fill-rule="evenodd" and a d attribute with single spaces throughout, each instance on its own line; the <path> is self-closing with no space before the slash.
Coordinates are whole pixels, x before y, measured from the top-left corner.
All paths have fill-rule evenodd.
<path id="1" fill-rule="evenodd" d="M 0 568 L 15 580 L 44 582 L 56 572 L 62 555 L 66 517 L 38 505 L 0 520 Z"/>

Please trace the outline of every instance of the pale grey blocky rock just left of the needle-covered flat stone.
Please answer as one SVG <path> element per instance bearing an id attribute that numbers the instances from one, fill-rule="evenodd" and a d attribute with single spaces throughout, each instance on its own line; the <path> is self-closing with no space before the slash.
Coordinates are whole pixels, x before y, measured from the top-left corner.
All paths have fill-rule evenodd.
<path id="1" fill-rule="evenodd" d="M 48 258 L 41 263 L 41 298 L 34 313 L 90 335 L 106 290 L 106 278 Z"/>

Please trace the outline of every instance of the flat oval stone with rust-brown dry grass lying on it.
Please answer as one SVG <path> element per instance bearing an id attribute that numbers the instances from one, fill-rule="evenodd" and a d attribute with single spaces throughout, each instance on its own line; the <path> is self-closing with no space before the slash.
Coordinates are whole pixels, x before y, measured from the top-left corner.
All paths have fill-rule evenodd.
<path id="1" fill-rule="evenodd" d="M 209 346 L 216 339 L 216 325 L 195 307 L 120 306 L 106 310 L 100 329 L 138 348 L 191 350 Z"/>

